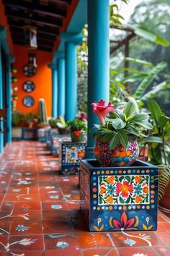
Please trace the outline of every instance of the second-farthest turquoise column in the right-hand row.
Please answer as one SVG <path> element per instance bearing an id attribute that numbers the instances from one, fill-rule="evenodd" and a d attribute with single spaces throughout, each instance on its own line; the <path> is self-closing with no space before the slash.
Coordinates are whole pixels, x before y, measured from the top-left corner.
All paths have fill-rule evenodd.
<path id="1" fill-rule="evenodd" d="M 58 116 L 65 116 L 66 102 L 66 75 L 65 75 L 65 57 L 63 52 L 55 52 L 58 67 Z"/>

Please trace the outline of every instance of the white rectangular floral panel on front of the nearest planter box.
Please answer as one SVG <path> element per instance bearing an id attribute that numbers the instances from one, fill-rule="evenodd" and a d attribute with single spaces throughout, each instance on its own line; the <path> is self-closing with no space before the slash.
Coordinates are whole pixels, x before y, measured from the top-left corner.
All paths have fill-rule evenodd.
<path id="1" fill-rule="evenodd" d="M 99 176 L 99 205 L 146 204 L 150 202 L 148 175 Z"/>

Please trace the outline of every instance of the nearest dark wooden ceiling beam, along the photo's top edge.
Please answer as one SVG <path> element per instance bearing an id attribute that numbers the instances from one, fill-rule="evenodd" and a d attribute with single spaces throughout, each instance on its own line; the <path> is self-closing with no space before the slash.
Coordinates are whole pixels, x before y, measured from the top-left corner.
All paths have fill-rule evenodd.
<path id="1" fill-rule="evenodd" d="M 63 18 L 66 17 L 66 8 L 60 8 L 58 7 L 57 9 L 55 8 L 55 5 L 42 5 L 38 4 L 36 1 L 30 2 L 27 1 L 20 1 L 20 0 L 3 0 L 3 3 L 5 7 L 11 7 L 11 8 L 16 8 L 16 9 L 21 9 L 21 10 L 30 10 L 32 9 L 32 12 L 36 12 L 38 14 L 45 14 L 47 16 L 51 17 L 59 17 Z"/>

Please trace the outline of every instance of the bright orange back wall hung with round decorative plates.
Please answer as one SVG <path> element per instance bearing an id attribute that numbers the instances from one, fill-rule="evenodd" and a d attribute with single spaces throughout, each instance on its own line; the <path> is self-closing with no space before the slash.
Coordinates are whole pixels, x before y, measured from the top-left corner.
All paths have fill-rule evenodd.
<path id="1" fill-rule="evenodd" d="M 52 81 L 51 81 L 51 69 L 48 68 L 52 60 L 52 54 L 46 51 L 35 51 L 37 54 L 37 72 L 33 77 L 26 77 L 24 75 L 24 66 L 28 63 L 28 52 L 24 46 L 14 45 L 15 61 L 13 67 L 17 69 L 16 77 L 18 82 L 12 84 L 17 85 L 18 90 L 14 92 L 19 96 L 17 100 L 17 110 L 22 111 L 24 114 L 30 112 L 38 112 L 38 100 L 44 98 L 47 106 L 48 116 L 51 116 L 51 102 L 52 102 Z M 35 83 L 35 90 L 32 93 L 27 93 L 23 90 L 23 84 L 27 80 Z M 26 107 L 22 101 L 25 95 L 30 95 L 35 99 L 35 105 L 32 107 Z"/>

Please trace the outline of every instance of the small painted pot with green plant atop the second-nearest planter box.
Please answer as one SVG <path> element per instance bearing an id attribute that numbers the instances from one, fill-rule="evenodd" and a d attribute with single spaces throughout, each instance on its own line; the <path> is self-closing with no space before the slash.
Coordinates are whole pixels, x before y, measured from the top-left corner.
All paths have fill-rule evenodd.
<path id="1" fill-rule="evenodd" d="M 86 142 L 86 122 L 81 119 L 68 121 L 68 127 L 71 128 L 72 142 Z"/>

